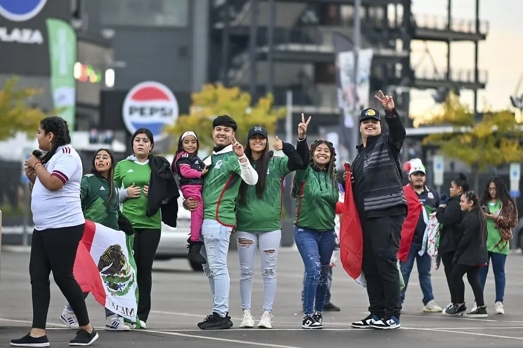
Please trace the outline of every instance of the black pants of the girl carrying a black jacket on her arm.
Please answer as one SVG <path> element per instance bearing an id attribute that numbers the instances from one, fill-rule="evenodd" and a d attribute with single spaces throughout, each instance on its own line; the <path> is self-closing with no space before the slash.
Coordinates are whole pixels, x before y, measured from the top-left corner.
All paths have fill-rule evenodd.
<path id="1" fill-rule="evenodd" d="M 151 311 L 151 289 L 154 255 L 160 243 L 161 229 L 135 228 L 134 261 L 138 276 L 138 318 L 147 322 Z"/>

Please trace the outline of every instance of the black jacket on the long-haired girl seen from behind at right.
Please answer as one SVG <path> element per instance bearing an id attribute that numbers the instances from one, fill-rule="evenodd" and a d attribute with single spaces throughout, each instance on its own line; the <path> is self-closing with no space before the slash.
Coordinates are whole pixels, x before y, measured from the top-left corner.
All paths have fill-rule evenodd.
<path id="1" fill-rule="evenodd" d="M 481 217 L 480 217 L 481 216 Z M 462 238 L 456 248 L 456 254 L 452 260 L 453 264 L 462 264 L 465 266 L 483 266 L 487 264 L 487 239 L 486 226 L 483 235 L 481 232 L 480 218 L 483 219 L 483 214 L 477 212 L 474 208 L 468 213 L 465 213 L 460 227 L 462 229 Z M 486 224 L 485 222 L 483 222 Z"/>

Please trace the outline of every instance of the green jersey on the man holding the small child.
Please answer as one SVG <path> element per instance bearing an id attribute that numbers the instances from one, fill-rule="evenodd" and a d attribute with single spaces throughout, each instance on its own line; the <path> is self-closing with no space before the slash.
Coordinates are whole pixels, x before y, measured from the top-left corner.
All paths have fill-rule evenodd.
<path id="1" fill-rule="evenodd" d="M 236 196 L 242 182 L 238 157 L 232 152 L 230 145 L 207 157 L 204 163 L 206 165 L 210 163 L 210 168 L 203 177 L 201 190 L 203 218 L 234 227 Z"/>

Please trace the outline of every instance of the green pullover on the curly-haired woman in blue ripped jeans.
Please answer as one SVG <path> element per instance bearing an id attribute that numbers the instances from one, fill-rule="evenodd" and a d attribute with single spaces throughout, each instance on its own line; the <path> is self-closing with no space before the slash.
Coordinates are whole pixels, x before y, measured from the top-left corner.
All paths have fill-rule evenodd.
<path id="1" fill-rule="evenodd" d="M 311 166 L 297 170 L 294 178 L 297 191 L 294 226 L 320 232 L 333 229 L 338 183 L 328 177 L 326 170 L 317 171 Z"/>

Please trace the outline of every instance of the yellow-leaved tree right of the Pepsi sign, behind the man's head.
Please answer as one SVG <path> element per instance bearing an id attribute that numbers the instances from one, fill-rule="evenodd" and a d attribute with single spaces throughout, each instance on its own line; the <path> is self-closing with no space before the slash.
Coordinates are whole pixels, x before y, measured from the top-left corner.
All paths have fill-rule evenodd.
<path id="1" fill-rule="evenodd" d="M 267 132 L 273 133 L 276 122 L 285 115 L 285 109 L 273 108 L 270 94 L 260 98 L 255 106 L 251 106 L 251 99 L 251 95 L 238 87 L 204 85 L 200 92 L 192 94 L 189 114 L 180 115 L 176 123 L 166 126 L 164 131 L 176 139 L 185 131 L 194 131 L 198 135 L 200 148 L 211 149 L 214 146 L 212 121 L 220 115 L 229 115 L 238 124 L 236 139 L 245 146 L 251 127 L 261 125 Z"/>

